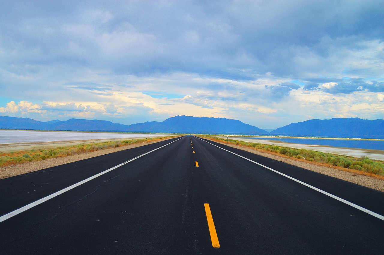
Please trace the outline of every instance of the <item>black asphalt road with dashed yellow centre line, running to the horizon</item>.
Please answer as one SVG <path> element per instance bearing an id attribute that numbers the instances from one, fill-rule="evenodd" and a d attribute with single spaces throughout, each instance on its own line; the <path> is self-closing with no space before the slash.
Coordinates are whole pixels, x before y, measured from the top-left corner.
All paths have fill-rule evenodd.
<path id="1" fill-rule="evenodd" d="M 382 254 L 383 219 L 250 160 L 384 215 L 383 192 L 184 136 L 0 180 L 0 254 Z"/>

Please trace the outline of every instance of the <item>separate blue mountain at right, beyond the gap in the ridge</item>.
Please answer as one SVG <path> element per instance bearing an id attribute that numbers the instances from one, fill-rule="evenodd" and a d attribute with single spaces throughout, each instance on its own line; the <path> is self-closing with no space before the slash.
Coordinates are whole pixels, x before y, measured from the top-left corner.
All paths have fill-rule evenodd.
<path id="1" fill-rule="evenodd" d="M 363 120 L 361 118 L 313 119 L 291 123 L 273 130 L 271 134 L 384 139 L 384 120 Z"/>

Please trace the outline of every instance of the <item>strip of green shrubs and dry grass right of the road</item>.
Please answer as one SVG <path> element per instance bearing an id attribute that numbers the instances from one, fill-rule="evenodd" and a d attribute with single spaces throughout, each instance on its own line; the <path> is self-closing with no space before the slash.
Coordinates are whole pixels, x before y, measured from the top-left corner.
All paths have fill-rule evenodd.
<path id="1" fill-rule="evenodd" d="M 205 137 L 205 136 L 202 136 Z M 227 139 L 205 137 L 211 140 L 227 142 Z M 384 179 L 384 163 L 379 160 L 371 160 L 367 156 L 361 158 L 354 158 L 350 156 L 334 155 L 330 153 L 323 153 L 319 151 L 312 151 L 306 149 L 288 148 L 283 146 L 271 146 L 261 143 L 249 143 L 238 140 L 228 140 L 228 143 L 239 146 L 252 147 L 259 151 L 268 153 L 279 154 L 280 156 L 296 158 L 300 161 L 311 161 L 319 165 L 331 166 L 336 169 L 351 171 L 357 174 L 373 176 L 379 179 Z"/>

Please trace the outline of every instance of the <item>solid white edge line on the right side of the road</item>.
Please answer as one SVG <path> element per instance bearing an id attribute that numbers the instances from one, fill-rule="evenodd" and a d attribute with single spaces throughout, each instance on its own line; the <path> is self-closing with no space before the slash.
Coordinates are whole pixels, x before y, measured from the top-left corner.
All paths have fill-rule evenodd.
<path id="1" fill-rule="evenodd" d="M 198 137 L 198 138 L 199 138 L 199 137 Z M 199 139 L 205 141 L 204 139 L 201 139 L 201 138 L 199 138 Z M 221 147 L 219 147 L 219 146 L 217 146 L 217 145 L 214 145 L 213 143 L 210 143 L 210 142 L 208 142 L 208 141 L 205 141 L 205 142 L 206 142 L 206 143 L 209 143 L 210 145 L 216 146 L 217 148 L 220 148 L 220 149 L 222 149 L 222 150 L 225 150 L 225 149 L 223 149 L 223 148 L 221 148 Z M 225 150 L 225 151 L 228 151 L 228 150 Z M 289 178 L 289 179 L 291 179 L 291 180 L 293 180 L 293 181 L 296 181 L 296 182 L 298 182 L 298 183 L 300 183 L 300 184 L 303 184 L 304 186 L 307 186 L 308 188 L 314 189 L 315 191 L 318 191 L 318 192 L 323 193 L 323 194 L 325 194 L 325 195 L 327 195 L 327 196 L 329 196 L 329 197 L 332 197 L 332 198 L 334 198 L 334 199 L 336 199 L 336 200 L 338 200 L 338 201 L 340 201 L 340 202 L 343 202 L 344 204 L 348 204 L 349 206 L 352 206 L 352 207 L 354 207 L 354 208 L 356 208 L 356 209 L 359 209 L 360 211 L 366 212 L 367 214 L 370 214 L 371 216 L 374 216 L 374 217 L 376 217 L 376 218 L 378 218 L 378 219 L 384 220 L 384 216 L 382 216 L 382 215 L 380 215 L 380 214 L 377 214 L 376 212 L 372 212 L 372 211 L 370 211 L 370 210 L 368 210 L 368 209 L 365 209 L 364 207 L 358 206 L 357 204 L 354 204 L 354 203 L 349 202 L 349 201 L 347 201 L 347 200 L 345 200 L 345 199 L 342 199 L 341 197 L 335 196 L 335 195 L 333 195 L 333 194 L 331 194 L 331 193 L 328 193 L 328 192 L 326 192 L 326 191 L 323 191 L 322 189 L 316 188 L 316 187 L 314 187 L 314 186 L 312 186 L 312 185 L 310 185 L 310 184 L 307 184 L 307 183 L 304 183 L 304 182 L 302 182 L 302 181 L 299 181 L 298 179 L 295 179 L 295 178 L 293 178 L 293 177 L 291 177 L 291 176 L 288 176 L 288 175 L 286 175 L 286 174 L 280 173 L 279 171 L 276 171 L 275 169 L 272 169 L 272 168 L 270 168 L 270 167 L 268 167 L 268 166 L 264 166 L 264 165 L 262 165 L 262 164 L 260 164 L 260 163 L 257 163 L 256 161 L 250 160 L 249 158 L 245 158 L 245 157 L 243 157 L 243 156 L 240 156 L 240 155 L 238 155 L 238 154 L 236 154 L 236 153 L 234 153 L 234 152 L 232 152 L 232 151 L 228 151 L 228 152 L 230 152 L 230 153 L 232 153 L 232 154 L 234 154 L 234 155 L 236 155 L 236 156 L 239 156 L 240 158 L 243 158 L 243 159 L 245 159 L 245 160 L 251 161 L 252 163 L 255 163 L 255 164 L 259 165 L 259 166 L 262 166 L 262 167 L 264 167 L 264 168 L 266 168 L 266 169 L 268 169 L 268 170 L 271 170 L 271 171 L 273 171 L 273 172 L 275 172 L 275 173 L 281 174 L 282 176 L 285 176 L 286 178 Z"/>

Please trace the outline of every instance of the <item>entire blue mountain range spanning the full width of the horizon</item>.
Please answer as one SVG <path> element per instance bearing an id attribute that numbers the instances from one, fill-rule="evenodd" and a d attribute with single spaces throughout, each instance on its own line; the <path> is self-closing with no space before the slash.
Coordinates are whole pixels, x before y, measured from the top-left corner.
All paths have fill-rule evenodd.
<path id="1" fill-rule="evenodd" d="M 361 118 L 332 118 L 330 120 L 306 120 L 291 123 L 268 133 L 245 124 L 240 120 L 227 118 L 207 118 L 175 116 L 163 122 L 151 121 L 122 125 L 107 120 L 51 120 L 41 122 L 30 118 L 0 117 L 2 129 L 62 130 L 62 131 L 109 131 L 109 132 L 162 132 L 162 133 L 206 133 L 242 135 L 292 135 L 339 138 L 377 138 L 384 139 L 384 120 L 363 120 Z"/>

